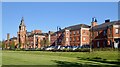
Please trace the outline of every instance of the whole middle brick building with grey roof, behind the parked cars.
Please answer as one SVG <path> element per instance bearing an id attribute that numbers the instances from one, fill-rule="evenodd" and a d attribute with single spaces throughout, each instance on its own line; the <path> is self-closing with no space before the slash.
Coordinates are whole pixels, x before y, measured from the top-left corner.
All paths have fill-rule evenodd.
<path id="1" fill-rule="evenodd" d="M 51 44 L 62 46 L 88 45 L 89 29 L 90 26 L 85 24 L 66 27 L 51 34 Z"/>

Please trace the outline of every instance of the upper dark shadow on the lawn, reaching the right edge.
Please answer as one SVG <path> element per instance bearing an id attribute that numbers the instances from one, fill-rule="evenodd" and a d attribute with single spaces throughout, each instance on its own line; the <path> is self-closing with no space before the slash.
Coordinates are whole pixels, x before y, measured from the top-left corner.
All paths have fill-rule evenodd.
<path id="1" fill-rule="evenodd" d="M 87 60 L 87 61 L 94 61 L 94 62 L 101 62 L 101 63 L 107 63 L 107 64 L 114 64 L 115 66 L 120 67 L 120 61 L 119 59 L 116 61 L 107 61 L 107 59 L 102 59 L 100 57 L 94 57 L 94 58 L 81 58 L 77 57 L 79 60 Z"/>

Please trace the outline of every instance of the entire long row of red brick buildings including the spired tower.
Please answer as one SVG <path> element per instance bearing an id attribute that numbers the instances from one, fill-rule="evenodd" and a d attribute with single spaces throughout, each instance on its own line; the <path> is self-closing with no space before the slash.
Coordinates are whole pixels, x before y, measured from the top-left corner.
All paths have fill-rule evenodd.
<path id="1" fill-rule="evenodd" d="M 10 34 L 7 34 L 5 47 L 9 48 L 8 46 L 14 42 L 16 47 L 21 44 L 20 48 L 40 48 L 43 46 L 43 44 L 41 44 L 43 40 L 48 40 L 49 45 L 92 45 L 93 48 L 118 48 L 120 47 L 120 20 L 112 22 L 105 20 L 104 23 L 98 25 L 96 18 L 92 18 L 91 26 L 77 24 L 65 27 L 64 29 L 58 30 L 57 28 L 56 32 L 49 31 L 48 33 L 42 33 L 41 30 L 27 32 L 24 19 L 22 18 L 17 37 L 10 38 Z"/>

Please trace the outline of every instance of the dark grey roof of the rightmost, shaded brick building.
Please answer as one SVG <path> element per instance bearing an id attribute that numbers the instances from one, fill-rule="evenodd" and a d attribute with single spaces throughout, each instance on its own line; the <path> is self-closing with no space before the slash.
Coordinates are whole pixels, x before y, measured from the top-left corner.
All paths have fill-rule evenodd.
<path id="1" fill-rule="evenodd" d="M 106 22 L 106 23 L 97 25 L 97 26 L 93 27 L 92 30 L 102 30 L 102 29 L 110 27 L 111 25 L 120 25 L 120 20 L 112 21 L 112 22 Z"/>

